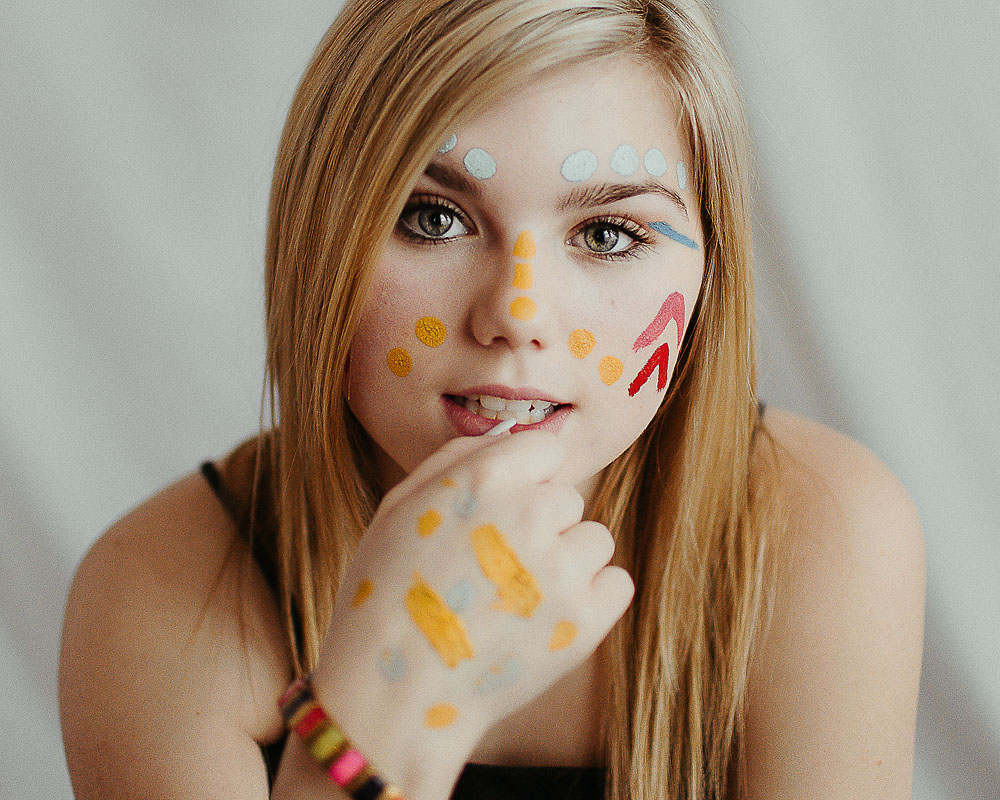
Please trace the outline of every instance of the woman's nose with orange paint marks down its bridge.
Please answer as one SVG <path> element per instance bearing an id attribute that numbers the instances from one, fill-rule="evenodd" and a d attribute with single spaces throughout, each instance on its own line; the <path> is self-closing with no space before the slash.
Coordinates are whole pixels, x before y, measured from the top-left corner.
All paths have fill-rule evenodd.
<path id="1" fill-rule="evenodd" d="M 553 276 L 530 230 L 522 230 L 513 245 L 501 250 L 499 263 L 484 270 L 471 309 L 472 335 L 484 347 L 506 344 L 511 349 L 542 350 L 556 336 Z"/>

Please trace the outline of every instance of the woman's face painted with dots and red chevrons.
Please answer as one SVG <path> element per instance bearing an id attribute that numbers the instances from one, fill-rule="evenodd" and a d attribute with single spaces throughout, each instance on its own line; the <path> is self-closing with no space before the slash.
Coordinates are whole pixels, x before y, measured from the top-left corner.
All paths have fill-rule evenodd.
<path id="1" fill-rule="evenodd" d="M 698 298 L 691 157 L 663 79 L 567 68 L 442 143 L 382 253 L 350 405 L 391 485 L 513 416 L 586 489 L 649 424 Z"/>

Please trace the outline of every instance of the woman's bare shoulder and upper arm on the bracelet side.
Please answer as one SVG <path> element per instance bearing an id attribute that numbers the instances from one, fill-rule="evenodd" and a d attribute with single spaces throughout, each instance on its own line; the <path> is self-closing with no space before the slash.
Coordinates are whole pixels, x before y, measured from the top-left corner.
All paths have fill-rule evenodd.
<path id="1" fill-rule="evenodd" d="M 276 604 L 204 478 L 168 486 L 91 547 L 59 664 L 77 798 L 266 797 L 290 674 Z"/>

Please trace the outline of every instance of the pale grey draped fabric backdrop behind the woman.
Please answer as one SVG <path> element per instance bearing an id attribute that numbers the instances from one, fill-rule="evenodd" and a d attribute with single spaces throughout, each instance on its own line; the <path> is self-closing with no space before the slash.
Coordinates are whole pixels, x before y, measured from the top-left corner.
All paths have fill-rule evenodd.
<path id="1" fill-rule="evenodd" d="M 0 6 L 0 796 L 68 798 L 88 545 L 255 430 L 271 161 L 337 3 Z M 878 453 L 928 554 L 914 796 L 1000 797 L 1000 8 L 725 0 L 762 389 Z"/>

